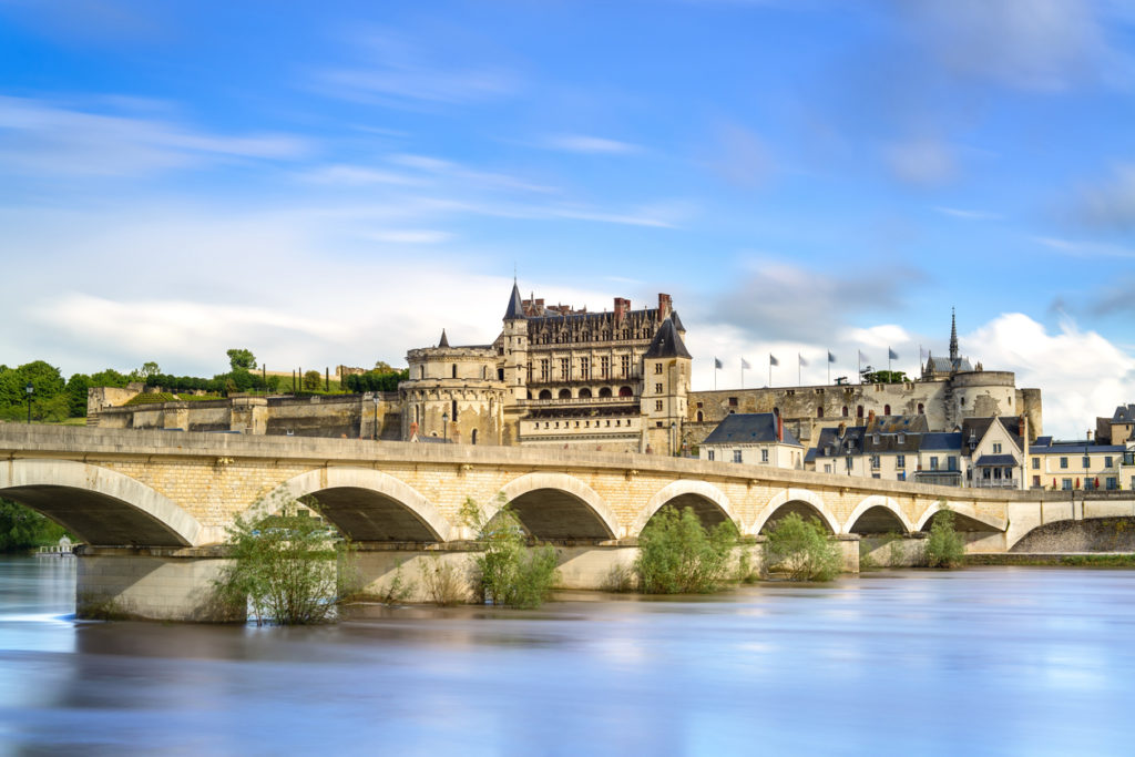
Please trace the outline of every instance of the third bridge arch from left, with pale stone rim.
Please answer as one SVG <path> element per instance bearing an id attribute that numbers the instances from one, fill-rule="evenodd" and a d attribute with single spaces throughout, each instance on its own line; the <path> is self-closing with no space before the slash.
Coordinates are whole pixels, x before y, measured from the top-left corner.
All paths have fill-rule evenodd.
<path id="1" fill-rule="evenodd" d="M 595 490 L 566 473 L 526 473 L 501 489 L 487 515 L 511 504 L 538 539 L 614 539 L 619 520 Z"/>

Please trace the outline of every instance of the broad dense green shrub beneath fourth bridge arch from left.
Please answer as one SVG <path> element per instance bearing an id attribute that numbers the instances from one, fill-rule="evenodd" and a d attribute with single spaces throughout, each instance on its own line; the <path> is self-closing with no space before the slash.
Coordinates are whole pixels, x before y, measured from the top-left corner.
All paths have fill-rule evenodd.
<path id="1" fill-rule="evenodd" d="M 639 537 L 634 572 L 646 594 L 707 594 L 729 578 L 737 546 L 732 521 L 711 530 L 690 507 L 659 510 Z"/>

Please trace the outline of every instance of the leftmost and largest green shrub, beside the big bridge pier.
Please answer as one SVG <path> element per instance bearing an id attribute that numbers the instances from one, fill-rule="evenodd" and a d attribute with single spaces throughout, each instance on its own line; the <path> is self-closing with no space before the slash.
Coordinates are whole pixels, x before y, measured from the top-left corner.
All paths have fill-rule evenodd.
<path id="1" fill-rule="evenodd" d="M 218 598 L 250 607 L 258 625 L 331 621 L 336 602 L 353 588 L 339 580 L 339 563 L 350 563 L 350 545 L 318 518 L 237 518 L 228 537 L 233 562 L 215 583 Z M 343 575 L 351 574 L 348 564 L 342 567 Z"/>

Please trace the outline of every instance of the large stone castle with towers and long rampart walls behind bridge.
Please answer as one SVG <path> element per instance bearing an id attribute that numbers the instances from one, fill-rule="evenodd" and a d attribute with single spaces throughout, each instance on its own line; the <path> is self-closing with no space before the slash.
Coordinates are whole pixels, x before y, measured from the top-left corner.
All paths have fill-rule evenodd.
<path id="1" fill-rule="evenodd" d="M 930 431 L 967 418 L 1025 417 L 1041 434 L 1040 389 L 1009 371 L 972 368 L 951 319 L 950 356 L 931 356 L 917 380 L 693 392 L 686 328 L 670 295 L 633 310 L 588 312 L 521 297 L 516 283 L 493 344 L 410 350 L 397 392 L 317 397 L 235 397 L 117 406 L 92 389 L 89 423 L 119 428 L 343 436 L 488 445 L 544 445 L 681 454 L 731 413 L 774 413 L 796 439 L 871 415 L 924 417 Z M 119 397 L 120 399 L 120 397 Z"/>

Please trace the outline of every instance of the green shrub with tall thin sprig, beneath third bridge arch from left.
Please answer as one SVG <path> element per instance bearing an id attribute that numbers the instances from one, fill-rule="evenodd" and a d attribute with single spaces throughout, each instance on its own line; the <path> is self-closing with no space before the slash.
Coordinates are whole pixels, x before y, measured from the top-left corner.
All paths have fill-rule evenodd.
<path id="1" fill-rule="evenodd" d="M 520 519 L 507 505 L 485 521 L 477 503 L 466 498 L 462 516 L 482 546 L 473 558 L 478 598 L 506 607 L 539 607 L 558 578 L 556 550 L 548 545 L 529 547 Z"/>

